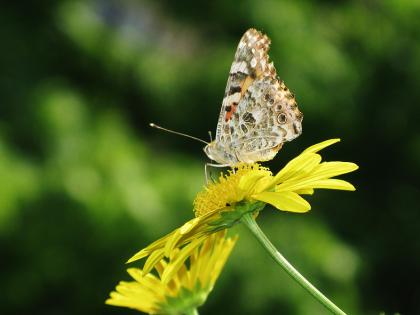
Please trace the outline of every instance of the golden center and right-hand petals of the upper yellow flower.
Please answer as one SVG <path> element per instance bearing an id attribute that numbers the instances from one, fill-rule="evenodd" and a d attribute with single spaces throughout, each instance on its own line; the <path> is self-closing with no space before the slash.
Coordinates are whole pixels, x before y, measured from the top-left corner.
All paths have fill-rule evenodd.
<path id="1" fill-rule="evenodd" d="M 194 201 L 196 216 L 243 200 L 259 200 L 284 211 L 306 212 L 311 206 L 300 195 L 313 194 L 315 188 L 355 190 L 352 184 L 332 177 L 356 170 L 356 164 L 321 162 L 321 155 L 317 153 L 339 141 L 331 139 L 307 148 L 275 176 L 257 163 L 239 165 L 236 172 L 221 175 L 219 182 L 208 185 L 197 195 Z"/>

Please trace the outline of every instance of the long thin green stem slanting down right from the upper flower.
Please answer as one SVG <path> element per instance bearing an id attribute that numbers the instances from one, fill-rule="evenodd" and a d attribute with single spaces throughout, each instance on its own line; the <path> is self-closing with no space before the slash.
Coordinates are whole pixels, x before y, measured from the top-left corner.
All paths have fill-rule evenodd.
<path id="1" fill-rule="evenodd" d="M 308 291 L 319 303 L 324 305 L 332 314 L 346 315 L 338 306 L 331 302 L 325 295 L 323 295 L 317 288 L 315 288 L 299 271 L 297 271 L 282 254 L 274 247 L 267 236 L 258 226 L 251 213 L 246 213 L 242 216 L 242 223 L 251 231 L 257 238 L 261 245 L 267 250 L 270 256 L 291 276 L 301 287 Z"/>

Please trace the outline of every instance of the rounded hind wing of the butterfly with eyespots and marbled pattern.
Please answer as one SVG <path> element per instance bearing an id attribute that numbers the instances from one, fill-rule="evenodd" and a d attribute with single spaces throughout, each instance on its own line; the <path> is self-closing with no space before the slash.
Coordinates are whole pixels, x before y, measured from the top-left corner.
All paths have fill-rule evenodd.
<path id="1" fill-rule="evenodd" d="M 303 115 L 294 95 L 277 77 L 255 80 L 241 99 L 230 151 L 243 162 L 271 160 L 284 142 L 302 133 Z"/>

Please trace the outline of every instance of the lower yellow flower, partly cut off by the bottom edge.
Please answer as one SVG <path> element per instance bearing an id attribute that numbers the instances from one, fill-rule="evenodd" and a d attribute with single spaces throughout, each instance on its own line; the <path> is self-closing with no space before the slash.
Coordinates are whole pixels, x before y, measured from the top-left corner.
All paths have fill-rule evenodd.
<path id="1" fill-rule="evenodd" d="M 148 314 L 192 313 L 207 299 L 235 245 L 236 238 L 225 238 L 225 232 L 207 237 L 190 253 L 188 266 L 182 263 L 176 272 L 168 270 L 173 264 L 165 259 L 155 263 L 156 275 L 144 274 L 138 268 L 128 269 L 135 281 L 120 282 L 106 304 Z M 169 261 L 179 261 L 180 256 L 182 251 L 175 249 Z"/>

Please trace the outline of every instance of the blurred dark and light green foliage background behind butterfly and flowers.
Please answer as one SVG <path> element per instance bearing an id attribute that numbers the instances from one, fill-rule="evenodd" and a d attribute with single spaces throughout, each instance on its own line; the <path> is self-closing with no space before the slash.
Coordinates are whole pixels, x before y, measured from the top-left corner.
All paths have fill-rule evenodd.
<path id="1" fill-rule="evenodd" d="M 420 314 L 420 2 L 9 1 L 0 7 L 1 314 L 104 305 L 125 260 L 193 216 L 207 138 L 243 32 L 305 115 L 278 170 L 340 137 L 357 191 L 318 191 L 262 229 L 349 314 Z M 201 314 L 325 314 L 241 227 Z"/>

